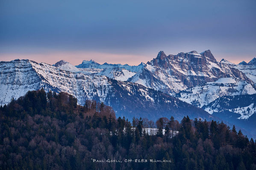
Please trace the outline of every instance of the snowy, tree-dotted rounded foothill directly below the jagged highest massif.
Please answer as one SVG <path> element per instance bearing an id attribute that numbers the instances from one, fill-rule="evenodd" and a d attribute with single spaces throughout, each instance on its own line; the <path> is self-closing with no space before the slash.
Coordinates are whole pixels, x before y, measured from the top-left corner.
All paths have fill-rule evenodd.
<path id="1" fill-rule="evenodd" d="M 246 81 L 238 78 L 221 78 L 215 82 L 207 82 L 180 91 L 175 95 L 178 99 L 202 108 L 221 96 L 241 94 L 256 94 L 255 88 Z"/>

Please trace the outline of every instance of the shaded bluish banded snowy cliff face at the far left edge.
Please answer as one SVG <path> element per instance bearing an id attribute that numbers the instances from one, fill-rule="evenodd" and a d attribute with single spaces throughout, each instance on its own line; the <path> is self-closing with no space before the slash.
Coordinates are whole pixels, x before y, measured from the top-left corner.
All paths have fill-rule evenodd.
<path id="1" fill-rule="evenodd" d="M 0 62 L 0 105 L 41 86 L 41 78 L 28 59 Z"/>

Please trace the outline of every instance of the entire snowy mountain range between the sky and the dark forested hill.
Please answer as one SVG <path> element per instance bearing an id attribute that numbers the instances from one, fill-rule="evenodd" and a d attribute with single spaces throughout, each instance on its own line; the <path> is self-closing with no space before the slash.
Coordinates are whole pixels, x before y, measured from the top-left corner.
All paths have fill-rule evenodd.
<path id="1" fill-rule="evenodd" d="M 137 66 L 64 60 L 54 65 L 28 59 L 0 62 L 0 105 L 44 88 L 72 94 L 79 105 L 96 100 L 117 116 L 156 120 L 184 116 L 224 121 L 256 137 L 256 58 L 238 65 L 217 62 L 210 50 L 166 55 Z M 249 133 L 250 131 L 250 133 Z"/>

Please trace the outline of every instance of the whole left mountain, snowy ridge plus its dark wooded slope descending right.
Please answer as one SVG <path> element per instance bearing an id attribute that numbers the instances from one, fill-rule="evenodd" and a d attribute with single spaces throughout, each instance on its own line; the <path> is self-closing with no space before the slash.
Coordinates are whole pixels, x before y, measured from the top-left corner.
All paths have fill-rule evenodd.
<path id="1" fill-rule="evenodd" d="M 60 61 L 55 65 L 28 59 L 0 62 L 0 105 L 40 88 L 72 94 L 79 105 L 84 105 L 87 99 L 104 102 L 114 108 L 117 116 L 129 119 L 141 116 L 156 120 L 162 116 L 174 116 L 181 120 L 185 115 L 212 118 L 206 111 L 160 91 L 106 76 L 88 75 L 68 62 Z"/>

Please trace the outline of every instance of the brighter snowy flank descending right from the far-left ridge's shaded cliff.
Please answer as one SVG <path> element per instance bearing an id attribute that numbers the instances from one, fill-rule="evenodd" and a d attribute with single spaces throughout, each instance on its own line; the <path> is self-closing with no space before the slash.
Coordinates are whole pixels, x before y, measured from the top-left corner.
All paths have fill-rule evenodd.
<path id="1" fill-rule="evenodd" d="M 60 71 L 54 66 L 35 63 L 32 63 L 32 67 L 43 78 L 42 82 L 47 88 L 56 88 L 58 91 L 65 91 L 77 96 L 80 105 L 84 104 L 85 99 L 93 99 L 94 96 L 99 96 L 100 101 L 104 101 L 107 94 L 102 93 L 102 90 L 106 92 L 109 90 L 109 82 L 106 76 Z"/>

